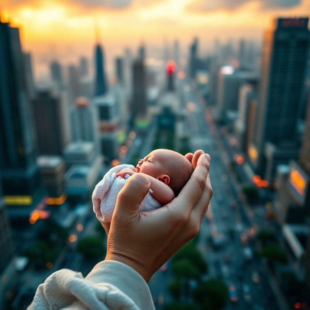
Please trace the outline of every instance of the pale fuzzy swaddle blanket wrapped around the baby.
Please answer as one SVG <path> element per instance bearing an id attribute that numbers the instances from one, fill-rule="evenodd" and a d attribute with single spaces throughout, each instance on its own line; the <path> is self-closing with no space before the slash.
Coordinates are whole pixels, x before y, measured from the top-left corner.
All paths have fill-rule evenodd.
<path id="1" fill-rule="evenodd" d="M 130 177 L 130 175 L 125 175 L 124 178 L 121 178 L 120 176 L 115 178 L 115 175 L 118 171 L 125 168 L 133 169 L 135 167 L 123 164 L 111 168 L 94 189 L 91 198 L 93 201 L 94 212 L 100 222 L 111 222 L 117 194 Z M 151 189 L 150 192 L 152 192 Z M 151 211 L 158 209 L 161 206 L 162 204 L 157 199 L 155 199 L 150 193 L 147 193 L 140 204 L 139 211 Z"/>

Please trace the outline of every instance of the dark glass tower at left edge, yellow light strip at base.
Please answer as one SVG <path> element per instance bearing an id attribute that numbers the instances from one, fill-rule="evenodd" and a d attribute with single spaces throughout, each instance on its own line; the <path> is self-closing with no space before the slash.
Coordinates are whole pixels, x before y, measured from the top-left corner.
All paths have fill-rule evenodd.
<path id="1" fill-rule="evenodd" d="M 28 216 L 42 192 L 18 28 L 0 21 L 0 42 L 0 177 L 10 214 Z"/>

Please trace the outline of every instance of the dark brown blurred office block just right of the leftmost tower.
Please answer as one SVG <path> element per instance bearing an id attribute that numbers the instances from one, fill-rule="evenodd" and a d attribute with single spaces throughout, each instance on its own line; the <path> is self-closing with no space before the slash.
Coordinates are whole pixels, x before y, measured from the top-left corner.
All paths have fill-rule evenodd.
<path id="1" fill-rule="evenodd" d="M 65 123 L 68 112 L 59 96 L 50 91 L 38 91 L 33 99 L 33 110 L 38 137 L 40 155 L 62 155 L 69 143 L 69 133 Z"/>

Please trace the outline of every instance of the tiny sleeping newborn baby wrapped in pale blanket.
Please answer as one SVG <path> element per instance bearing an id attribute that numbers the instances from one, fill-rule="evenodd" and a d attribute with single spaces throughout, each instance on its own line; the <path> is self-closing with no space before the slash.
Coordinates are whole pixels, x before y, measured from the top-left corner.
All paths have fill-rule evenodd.
<path id="1" fill-rule="evenodd" d="M 126 179 L 135 173 L 144 173 L 151 183 L 150 191 L 139 208 L 143 212 L 155 210 L 173 200 L 192 175 L 193 166 L 180 153 L 157 149 L 139 160 L 136 168 L 132 165 L 111 168 L 96 185 L 92 195 L 94 212 L 101 222 L 111 221 L 117 193 Z"/>

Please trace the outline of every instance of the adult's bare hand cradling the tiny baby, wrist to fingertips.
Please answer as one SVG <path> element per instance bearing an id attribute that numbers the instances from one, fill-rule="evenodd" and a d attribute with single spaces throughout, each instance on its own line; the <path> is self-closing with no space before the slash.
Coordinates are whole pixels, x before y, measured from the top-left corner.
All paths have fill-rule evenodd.
<path id="1" fill-rule="evenodd" d="M 105 260 L 131 266 L 148 282 L 181 246 L 197 235 L 212 197 L 209 162 L 210 156 L 201 154 L 178 197 L 149 212 L 138 209 L 150 189 L 150 181 L 140 173 L 131 176 L 117 195 L 109 232 L 105 227 Z"/>

